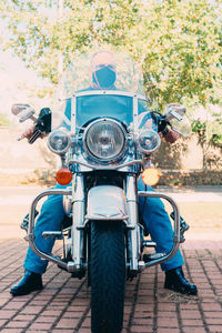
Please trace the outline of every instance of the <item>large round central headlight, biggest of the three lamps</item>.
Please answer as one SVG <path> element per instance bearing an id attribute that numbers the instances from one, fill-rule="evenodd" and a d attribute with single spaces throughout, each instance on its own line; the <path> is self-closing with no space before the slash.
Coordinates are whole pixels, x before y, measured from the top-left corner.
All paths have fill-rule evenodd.
<path id="1" fill-rule="evenodd" d="M 125 131 L 110 119 L 95 120 L 84 131 L 84 148 L 94 159 L 109 162 L 118 159 L 125 145 Z"/>

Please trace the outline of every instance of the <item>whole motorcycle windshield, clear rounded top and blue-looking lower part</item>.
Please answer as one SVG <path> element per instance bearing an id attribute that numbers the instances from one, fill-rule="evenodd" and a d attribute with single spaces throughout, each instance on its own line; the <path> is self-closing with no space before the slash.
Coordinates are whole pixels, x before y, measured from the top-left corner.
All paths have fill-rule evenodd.
<path id="1" fill-rule="evenodd" d="M 107 94 L 101 94 L 102 90 Z M 123 95 L 124 92 L 128 95 Z M 128 54 L 110 51 L 80 54 L 62 75 L 57 93 L 57 101 L 61 102 L 52 112 L 52 128 L 63 125 L 70 130 L 73 104 L 77 127 L 98 117 L 111 117 L 130 124 L 133 98 L 129 93 L 144 95 L 142 73 Z M 139 112 L 145 108 L 147 103 L 141 101 Z"/>

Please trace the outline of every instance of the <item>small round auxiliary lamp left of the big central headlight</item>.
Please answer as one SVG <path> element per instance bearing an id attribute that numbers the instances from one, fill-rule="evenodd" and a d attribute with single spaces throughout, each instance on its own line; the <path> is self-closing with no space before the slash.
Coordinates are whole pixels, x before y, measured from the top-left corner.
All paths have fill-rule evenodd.
<path id="1" fill-rule="evenodd" d="M 70 147 L 70 135 L 63 130 L 54 130 L 48 138 L 48 145 L 57 154 L 63 154 Z"/>

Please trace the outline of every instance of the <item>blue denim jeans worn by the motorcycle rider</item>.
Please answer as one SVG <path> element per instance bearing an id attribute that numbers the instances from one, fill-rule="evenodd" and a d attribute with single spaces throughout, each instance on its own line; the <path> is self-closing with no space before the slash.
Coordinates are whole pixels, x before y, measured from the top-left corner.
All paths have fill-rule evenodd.
<path id="1" fill-rule="evenodd" d="M 65 189 L 57 184 L 56 189 Z M 139 180 L 138 189 L 144 191 L 145 186 L 142 180 Z M 148 186 L 148 191 L 153 191 Z M 139 210 L 143 210 L 144 198 L 139 199 Z M 46 252 L 51 253 L 54 240 L 42 238 L 43 231 L 59 231 L 64 216 L 62 195 L 50 195 L 42 204 L 41 213 L 36 223 L 36 244 Z M 148 198 L 144 209 L 143 220 L 151 235 L 152 241 L 157 243 L 157 252 L 164 253 L 170 251 L 173 243 L 173 230 L 170 218 L 164 210 L 162 201 L 158 198 Z M 176 254 L 169 261 L 161 264 L 163 271 L 172 270 L 183 265 L 183 258 L 178 250 Z M 42 274 L 46 272 L 48 261 L 37 255 L 29 246 L 23 268 L 28 271 Z"/>

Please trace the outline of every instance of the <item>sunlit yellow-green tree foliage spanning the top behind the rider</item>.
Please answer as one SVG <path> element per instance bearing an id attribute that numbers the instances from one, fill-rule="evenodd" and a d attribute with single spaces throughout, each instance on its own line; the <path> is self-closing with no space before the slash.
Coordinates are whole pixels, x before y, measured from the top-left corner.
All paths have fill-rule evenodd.
<path id="1" fill-rule="evenodd" d="M 142 64 L 147 92 L 159 103 L 221 94 L 221 1 L 2 0 L 11 36 L 4 42 L 42 77 L 58 82 L 74 53 L 108 43 Z M 7 13 L 4 16 L 3 13 Z M 218 93 L 215 93 L 218 91 Z"/>

